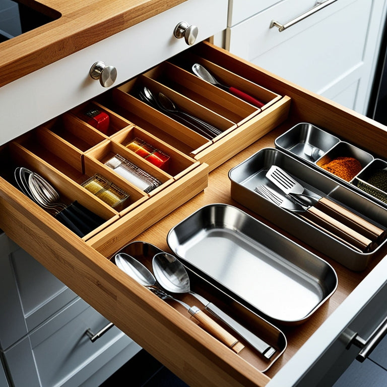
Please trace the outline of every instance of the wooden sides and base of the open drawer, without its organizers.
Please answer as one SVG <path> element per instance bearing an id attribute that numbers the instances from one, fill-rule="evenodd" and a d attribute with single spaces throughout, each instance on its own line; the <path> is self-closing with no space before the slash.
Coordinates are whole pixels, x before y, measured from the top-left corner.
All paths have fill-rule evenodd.
<path id="1" fill-rule="evenodd" d="M 325 340 L 327 332 L 323 328 L 324 321 L 329 322 L 330 315 L 335 310 L 336 313 L 340 313 L 340 304 L 347 297 L 351 299 L 349 297 L 351 292 L 367 276 L 367 273 L 375 267 L 378 261 L 381 260 L 381 263 L 384 263 L 382 256 L 374 257 L 367 271 L 361 273 L 353 273 L 328 257 L 324 257 L 338 274 L 339 285 L 336 292 L 329 302 L 326 302 L 302 326 L 297 329 L 285 327 L 285 335 L 288 339 L 287 349 L 265 373 L 253 365 L 259 358 L 258 354 L 245 358 L 234 353 L 199 326 L 193 324 L 186 314 L 166 304 L 148 289 L 126 276 L 109 258 L 119 248 L 130 242 L 135 237 L 134 235 L 139 240 L 148 241 L 168 251 L 166 235 L 179 221 L 207 204 L 235 205 L 230 198 L 230 185 L 227 178 L 229 169 L 257 150 L 274 146 L 275 138 L 297 122 L 312 122 L 317 126 L 329 128 L 332 133 L 340 135 L 340 138 L 360 147 L 372 149 L 373 153 L 384 158 L 387 157 L 387 136 L 383 125 L 365 119 L 324 97 L 302 90 L 225 50 L 209 43 L 201 43 L 192 49 L 193 53 L 200 54 L 201 57 L 227 71 L 242 76 L 259 85 L 260 88 L 282 96 L 268 108 L 250 117 L 249 121 L 256 123 L 251 128 L 247 122 L 240 126 L 236 125 L 227 136 L 214 141 L 204 149 L 204 152 L 209 155 L 215 152 L 216 157 L 222 157 L 227 151 L 233 155 L 212 170 L 209 175 L 209 185 L 204 192 L 193 197 L 184 205 L 177 205 L 177 202 L 180 201 L 179 196 L 184 195 L 186 190 L 192 189 L 190 180 L 187 178 L 188 172 L 176 180 L 178 182 L 185 179 L 178 189 L 173 190 L 175 182 L 172 182 L 146 200 L 153 204 L 159 195 L 165 199 L 165 202 L 160 201 L 154 206 L 147 205 L 145 210 L 141 208 L 141 204 L 124 216 L 117 215 L 118 219 L 85 240 L 52 222 L 48 214 L 31 201 L 27 201 L 24 195 L 3 176 L 0 179 L 0 204 L 2 206 L 0 227 L 61 281 L 190 385 L 263 386 L 270 381 L 270 378 L 273 378 L 274 381 L 277 373 L 281 374 L 281 368 L 286 367 L 292 357 L 296 356 L 296 352 L 302 350 L 303 344 L 314 332 L 320 338 L 321 343 L 327 343 Z M 127 86 L 125 85 L 122 85 L 123 88 Z M 119 93 L 127 91 L 122 90 L 121 87 L 120 89 Z M 130 93 L 126 94 L 130 95 Z M 284 109 L 284 106 L 287 109 Z M 273 120 L 273 117 L 277 115 L 280 118 Z M 133 126 L 137 127 L 137 125 Z M 261 133 L 262 127 L 264 130 Z M 140 125 L 139 128 L 144 129 Z M 123 128 L 124 131 L 129 129 Z M 248 136 L 243 136 L 243 129 L 247 131 L 245 133 Z M 49 127 L 42 128 L 42 130 L 51 132 Z M 255 137 L 249 133 L 250 130 Z M 238 146 L 241 147 L 238 153 L 235 153 L 233 147 L 235 143 L 231 143 L 230 148 L 227 146 L 227 139 L 233 138 L 236 134 L 239 134 L 239 143 L 245 141 L 243 146 L 238 143 Z M 113 137 L 105 139 L 106 147 L 118 141 Z M 219 149 L 218 143 L 223 144 L 224 148 Z M 19 150 L 21 148 L 19 145 L 15 145 L 15 149 Z M 100 146 L 105 147 L 105 142 L 97 144 L 96 147 L 90 149 L 90 152 L 98 154 L 97 149 Z M 217 151 L 219 154 L 216 153 Z M 90 157 L 98 159 L 96 154 Z M 39 165 L 45 165 L 44 168 L 51 171 L 52 167 L 48 163 L 39 160 Z M 55 170 L 55 176 L 61 175 L 62 172 Z M 60 181 L 59 178 L 58 181 Z M 168 216 L 164 217 L 166 214 L 163 213 L 159 217 L 156 212 L 163 212 L 166 203 L 169 205 L 171 202 L 173 205 L 170 205 L 169 209 L 173 207 L 176 210 Z M 127 215 L 130 221 L 125 220 Z M 150 227 L 150 224 L 155 222 L 149 221 L 149 218 L 154 216 L 159 220 Z M 149 222 L 146 231 L 138 235 L 141 227 L 135 231 L 130 230 L 130 225 L 137 228 L 138 223 L 142 221 Z M 378 274 L 378 272 L 375 273 L 375 276 Z M 318 329 L 320 326 L 321 330 Z M 335 332 L 338 329 L 335 329 Z M 311 358 L 309 360 L 309 362 L 313 361 Z M 302 367 L 302 365 L 299 366 Z"/>

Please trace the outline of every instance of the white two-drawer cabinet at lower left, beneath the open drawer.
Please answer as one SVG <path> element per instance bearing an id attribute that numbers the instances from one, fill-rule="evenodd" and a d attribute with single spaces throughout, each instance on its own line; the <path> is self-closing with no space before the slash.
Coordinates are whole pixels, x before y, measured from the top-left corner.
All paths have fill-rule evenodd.
<path id="1" fill-rule="evenodd" d="M 0 251 L 0 358 L 11 385 L 98 385 L 141 349 L 116 327 L 91 342 L 86 331 L 109 321 L 4 233 Z"/>

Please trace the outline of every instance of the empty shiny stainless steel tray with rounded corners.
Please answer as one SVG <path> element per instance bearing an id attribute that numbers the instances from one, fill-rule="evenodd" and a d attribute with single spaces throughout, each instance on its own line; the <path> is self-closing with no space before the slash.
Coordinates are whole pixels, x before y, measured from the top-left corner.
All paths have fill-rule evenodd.
<path id="1" fill-rule="evenodd" d="M 192 271 L 280 323 L 305 321 L 337 287 L 326 261 L 233 206 L 201 208 L 167 242 Z"/>

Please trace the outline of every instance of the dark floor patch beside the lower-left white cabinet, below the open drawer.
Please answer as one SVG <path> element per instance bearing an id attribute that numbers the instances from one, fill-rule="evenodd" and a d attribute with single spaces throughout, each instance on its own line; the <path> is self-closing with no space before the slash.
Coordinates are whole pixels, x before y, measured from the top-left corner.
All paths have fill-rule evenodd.
<path id="1" fill-rule="evenodd" d="M 188 387 L 168 368 L 144 350 L 124 364 L 100 387 Z"/>

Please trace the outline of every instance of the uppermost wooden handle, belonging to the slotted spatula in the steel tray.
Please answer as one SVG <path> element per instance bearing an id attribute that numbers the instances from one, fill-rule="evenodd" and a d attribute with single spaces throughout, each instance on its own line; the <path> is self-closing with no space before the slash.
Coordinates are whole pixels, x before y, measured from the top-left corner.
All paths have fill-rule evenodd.
<path id="1" fill-rule="evenodd" d="M 377 240 L 380 243 L 387 236 L 386 230 L 375 226 L 361 216 L 354 214 L 352 211 L 347 210 L 345 207 L 340 206 L 328 198 L 321 198 L 316 204 L 316 207 L 321 210 L 324 209 L 332 217 L 338 217 L 342 223 L 364 234 L 364 236 L 371 240 Z"/>

